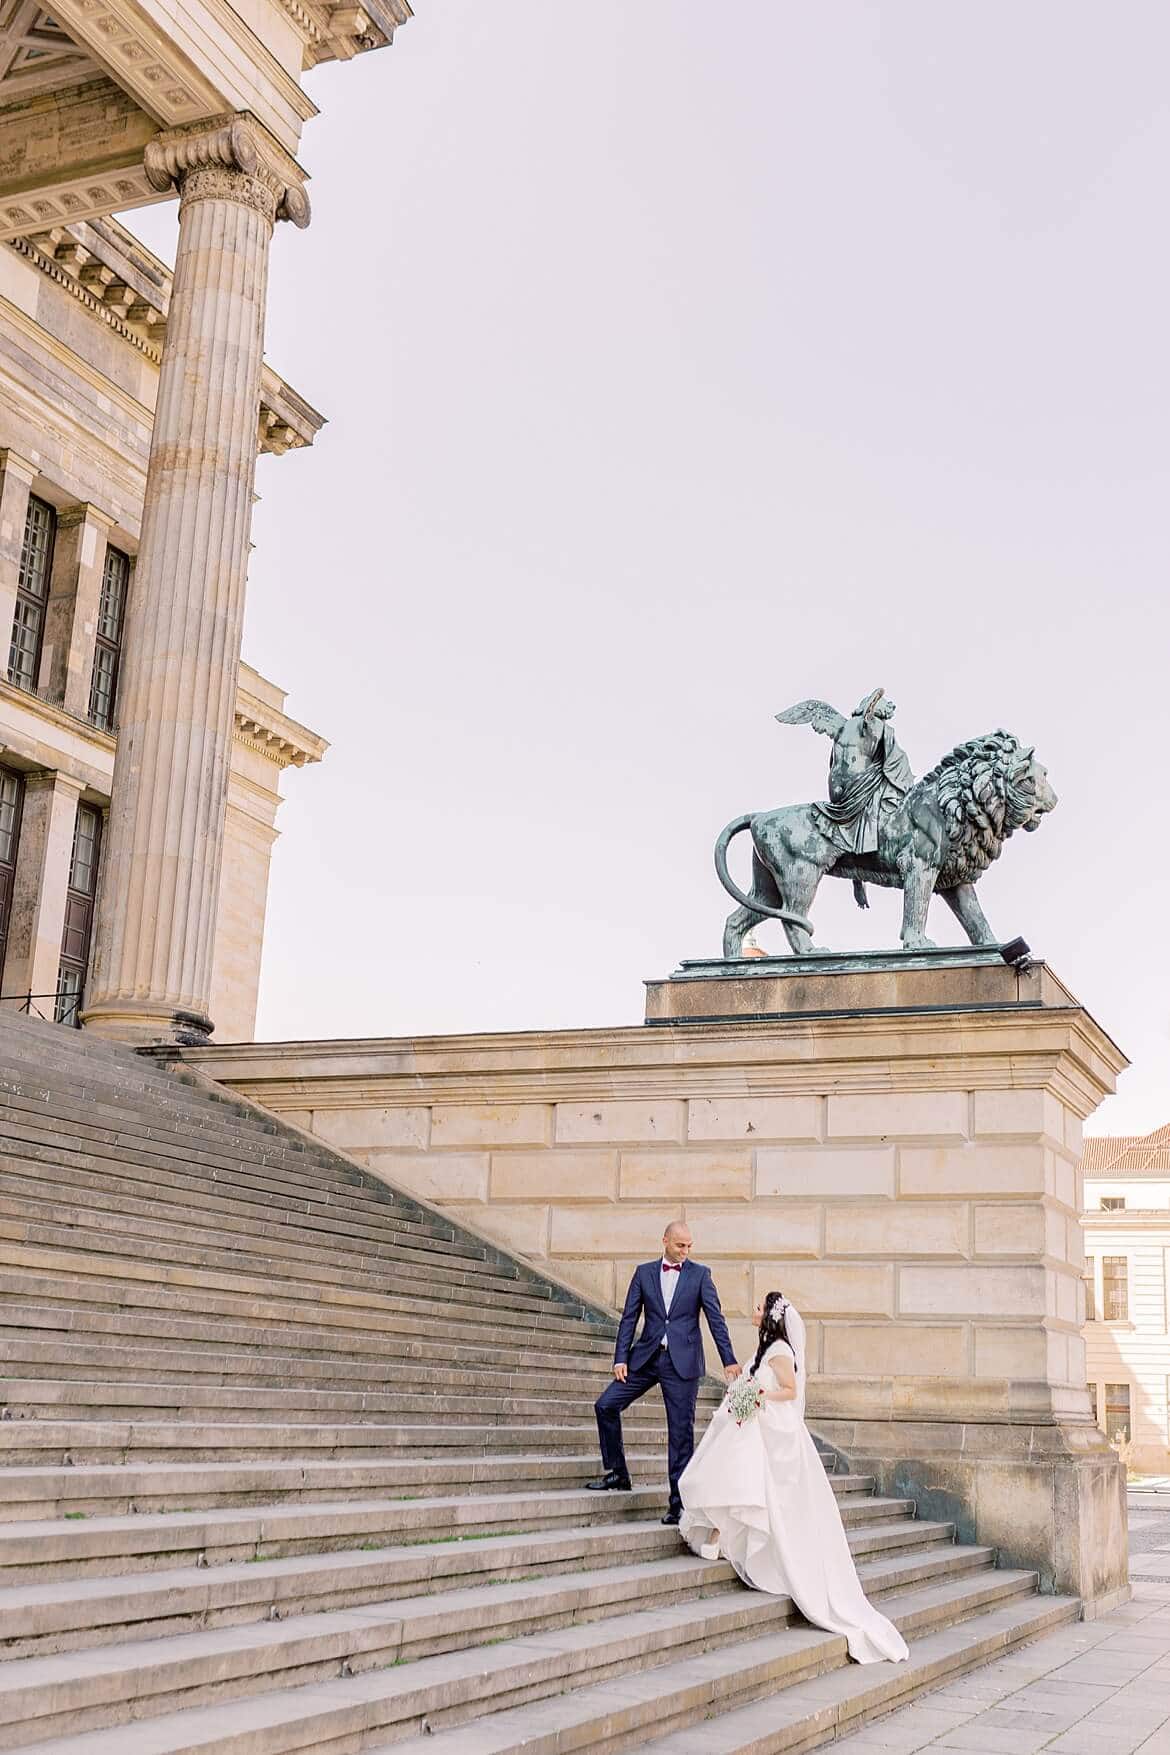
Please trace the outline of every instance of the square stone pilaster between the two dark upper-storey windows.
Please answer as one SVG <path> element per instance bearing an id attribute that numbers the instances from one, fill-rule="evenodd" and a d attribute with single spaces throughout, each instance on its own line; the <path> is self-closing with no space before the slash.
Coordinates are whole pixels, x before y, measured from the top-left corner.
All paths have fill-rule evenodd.
<path id="1" fill-rule="evenodd" d="M 70 505 L 56 514 L 40 688 L 77 720 L 89 714 L 102 572 L 112 525 L 114 519 L 96 505 Z"/>

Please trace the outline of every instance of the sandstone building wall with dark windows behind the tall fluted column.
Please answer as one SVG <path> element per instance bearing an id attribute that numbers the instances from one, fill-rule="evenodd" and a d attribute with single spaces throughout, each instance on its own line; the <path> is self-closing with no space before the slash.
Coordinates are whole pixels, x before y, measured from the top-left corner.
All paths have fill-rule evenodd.
<path id="1" fill-rule="evenodd" d="M 84 1007 L 170 272 L 111 219 L 0 244 L 0 995 Z M 317 416 L 267 367 L 258 448 Z M 254 1035 L 286 767 L 325 742 L 239 665 L 210 1016 Z"/>

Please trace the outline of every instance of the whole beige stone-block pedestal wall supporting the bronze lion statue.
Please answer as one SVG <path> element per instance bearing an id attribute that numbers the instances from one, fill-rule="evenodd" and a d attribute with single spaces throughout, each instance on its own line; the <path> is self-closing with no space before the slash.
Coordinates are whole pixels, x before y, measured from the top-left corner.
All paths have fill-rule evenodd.
<path id="1" fill-rule="evenodd" d="M 686 1218 L 740 1358 L 765 1292 L 803 1313 L 809 1418 L 854 1469 L 1116 1601 L 1124 1481 L 1086 1390 L 1079 1223 L 1114 1042 L 1042 963 L 986 951 L 684 965 L 647 1009 L 198 1060 L 609 1309 Z"/>

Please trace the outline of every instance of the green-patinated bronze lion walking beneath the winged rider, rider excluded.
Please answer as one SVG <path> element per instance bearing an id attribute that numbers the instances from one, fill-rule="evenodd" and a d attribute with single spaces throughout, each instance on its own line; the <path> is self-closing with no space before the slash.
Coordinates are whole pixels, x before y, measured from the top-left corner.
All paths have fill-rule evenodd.
<path id="1" fill-rule="evenodd" d="M 1056 806 L 1056 793 L 1031 748 L 1010 732 L 974 737 L 916 781 L 877 828 L 872 853 L 842 851 L 817 804 L 737 816 L 716 842 L 716 870 L 740 904 L 728 914 L 723 955 L 740 956 L 744 935 L 763 920 L 781 920 L 798 956 L 823 949 L 812 942 L 809 911 L 821 878 L 849 878 L 860 907 L 865 886 L 902 890 L 902 944 L 933 949 L 926 913 L 935 892 L 972 944 L 996 944 L 979 906 L 975 883 L 1017 828 L 1033 830 Z M 753 839 L 751 893 L 728 872 L 728 846 L 742 830 Z"/>

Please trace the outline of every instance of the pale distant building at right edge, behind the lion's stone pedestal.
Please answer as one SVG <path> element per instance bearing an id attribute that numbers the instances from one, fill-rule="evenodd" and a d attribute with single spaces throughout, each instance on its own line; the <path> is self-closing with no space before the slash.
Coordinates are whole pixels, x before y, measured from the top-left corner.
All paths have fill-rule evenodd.
<path id="1" fill-rule="evenodd" d="M 1086 1374 L 1131 1467 L 1170 1474 L 1170 1125 L 1084 1143 Z"/>

